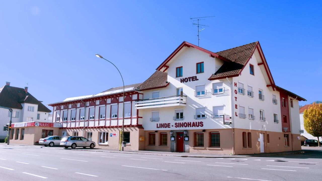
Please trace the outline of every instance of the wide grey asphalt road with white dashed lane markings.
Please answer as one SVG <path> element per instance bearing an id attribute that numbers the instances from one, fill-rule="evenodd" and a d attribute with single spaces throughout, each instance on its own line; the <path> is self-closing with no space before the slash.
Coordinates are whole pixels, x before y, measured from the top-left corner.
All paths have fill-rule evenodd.
<path id="1" fill-rule="evenodd" d="M 320 181 L 322 151 L 246 158 L 102 153 L 0 146 L 0 180 Z"/>

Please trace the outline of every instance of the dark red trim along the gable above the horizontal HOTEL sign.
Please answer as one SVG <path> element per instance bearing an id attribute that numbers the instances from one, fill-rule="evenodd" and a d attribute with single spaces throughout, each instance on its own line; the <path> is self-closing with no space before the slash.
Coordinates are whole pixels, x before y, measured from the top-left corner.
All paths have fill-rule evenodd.
<path id="1" fill-rule="evenodd" d="M 161 71 L 161 69 L 163 68 L 163 67 L 165 67 L 166 66 L 166 64 L 183 48 L 183 47 L 192 47 L 192 48 L 195 48 L 195 49 L 198 49 L 198 50 L 200 50 L 200 51 L 203 51 L 203 52 L 206 52 L 206 53 L 209 53 L 209 56 L 211 56 L 211 57 L 217 57 L 217 58 L 220 58 L 220 59 L 222 59 L 222 60 L 224 60 L 224 61 L 227 61 L 227 62 L 231 62 L 230 60 L 228 60 L 228 59 L 226 59 L 226 58 L 224 58 L 223 56 L 220 56 L 220 55 L 218 55 L 217 53 L 214 53 L 214 52 L 211 52 L 211 51 L 209 51 L 209 50 L 206 50 L 206 49 L 204 49 L 204 48 L 201 48 L 201 47 L 199 47 L 199 46 L 196 46 L 196 45 L 194 45 L 194 44 L 191 44 L 191 43 L 188 43 L 188 42 L 183 42 L 183 43 L 181 43 L 179 46 L 178 46 L 178 48 L 176 48 L 175 49 L 175 51 L 174 52 L 172 52 L 169 56 L 168 56 L 168 58 L 166 58 L 166 60 L 164 61 L 164 62 L 162 62 L 161 63 L 161 65 L 159 65 L 158 66 L 158 68 L 156 68 L 156 70 L 158 70 L 158 71 Z"/>

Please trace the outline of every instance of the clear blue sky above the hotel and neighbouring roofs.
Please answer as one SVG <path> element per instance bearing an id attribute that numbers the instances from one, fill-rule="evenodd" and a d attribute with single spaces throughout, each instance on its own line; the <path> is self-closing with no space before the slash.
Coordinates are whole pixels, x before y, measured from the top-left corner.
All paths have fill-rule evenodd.
<path id="1" fill-rule="evenodd" d="M 276 85 L 322 100 L 321 1 L 1 1 L 0 85 L 44 104 L 145 81 L 175 48 L 213 52 L 260 41 Z"/>

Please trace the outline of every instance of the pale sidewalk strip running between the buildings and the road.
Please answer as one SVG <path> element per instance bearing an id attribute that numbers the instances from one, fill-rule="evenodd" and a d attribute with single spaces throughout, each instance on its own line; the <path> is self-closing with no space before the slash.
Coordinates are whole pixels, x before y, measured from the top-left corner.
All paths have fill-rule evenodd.
<path id="1" fill-rule="evenodd" d="M 0 143 L 0 146 L 7 146 L 5 143 Z M 10 146 L 17 147 L 38 147 L 43 148 L 44 146 L 40 145 L 20 145 L 20 144 L 10 144 Z M 53 147 L 55 149 L 66 149 L 62 147 Z M 301 154 L 313 151 L 322 151 L 322 148 L 318 147 L 302 147 L 302 150 L 299 151 L 286 151 L 286 152 L 276 152 L 276 153 L 260 153 L 260 154 L 251 154 L 251 155 L 222 155 L 222 154 L 205 154 L 205 153 L 178 153 L 178 152 L 168 152 L 168 151 L 148 151 L 148 150 L 126 150 L 118 151 L 115 149 L 101 149 L 101 148 L 76 148 L 69 150 L 77 151 L 94 151 L 94 152 L 109 152 L 109 153 L 128 153 L 128 154 L 142 154 L 142 155 L 160 155 L 160 156 L 173 156 L 173 157 L 205 157 L 205 158 L 239 158 L 239 157 L 264 157 L 264 156 L 274 156 L 274 155 L 289 155 L 289 154 Z"/>

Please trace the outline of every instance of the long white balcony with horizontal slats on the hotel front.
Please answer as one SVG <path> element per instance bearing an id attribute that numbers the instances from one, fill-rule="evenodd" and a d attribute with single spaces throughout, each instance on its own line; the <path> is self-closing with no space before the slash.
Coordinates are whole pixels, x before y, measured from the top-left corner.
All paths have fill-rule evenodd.
<path id="1" fill-rule="evenodd" d="M 140 100 L 135 103 L 136 109 L 162 108 L 170 106 L 186 106 L 187 96 L 175 95 Z"/>

